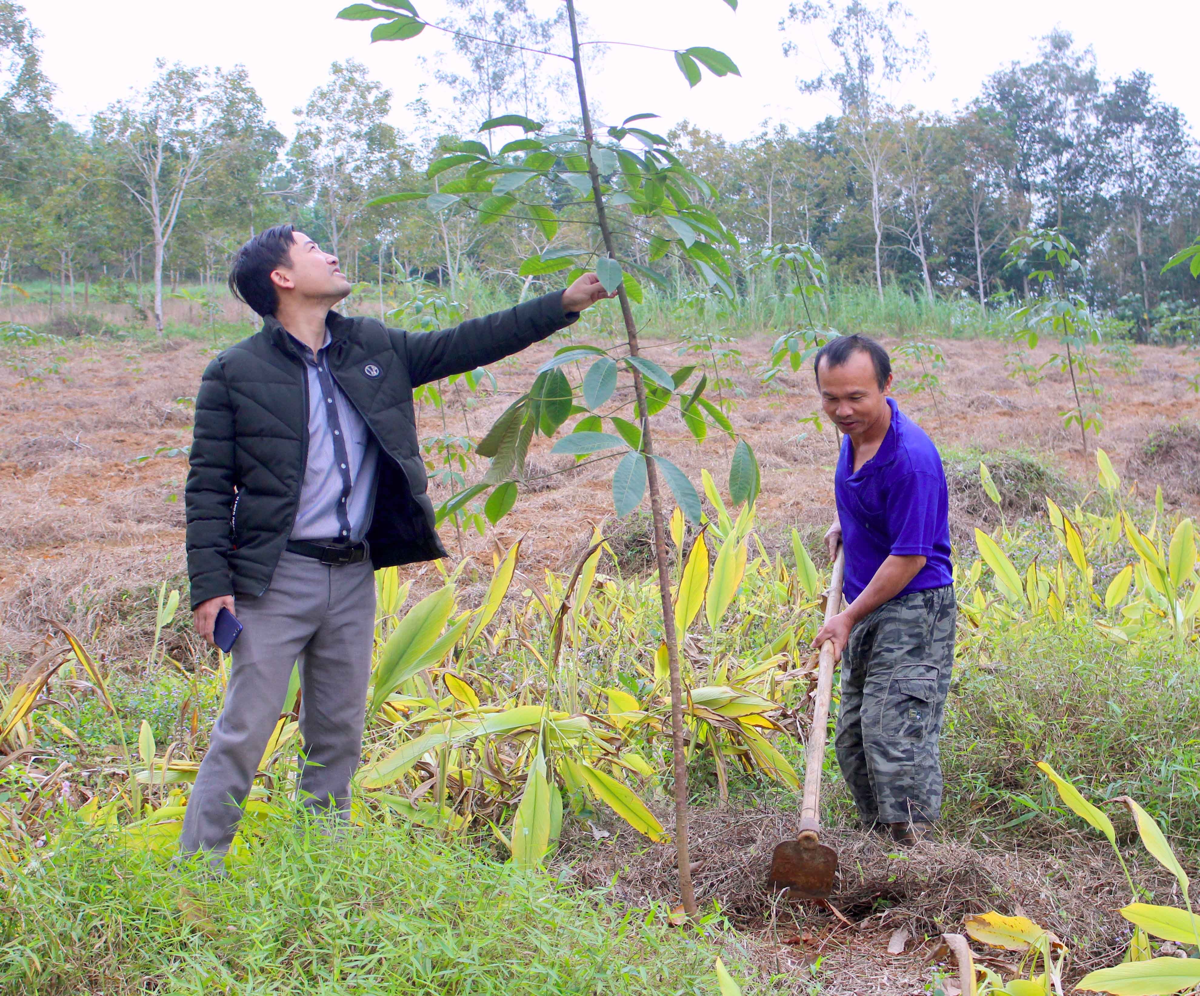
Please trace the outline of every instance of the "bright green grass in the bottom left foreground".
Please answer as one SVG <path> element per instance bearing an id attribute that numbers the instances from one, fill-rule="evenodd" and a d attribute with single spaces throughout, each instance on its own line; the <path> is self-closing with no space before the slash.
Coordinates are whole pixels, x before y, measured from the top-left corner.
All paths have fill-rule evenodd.
<path id="1" fill-rule="evenodd" d="M 95 832 L 26 858 L 0 906 L 5 994 L 698 994 L 718 953 L 665 916 L 406 827 L 270 827 L 205 880 Z M 665 912 L 665 911 L 662 911 Z"/>

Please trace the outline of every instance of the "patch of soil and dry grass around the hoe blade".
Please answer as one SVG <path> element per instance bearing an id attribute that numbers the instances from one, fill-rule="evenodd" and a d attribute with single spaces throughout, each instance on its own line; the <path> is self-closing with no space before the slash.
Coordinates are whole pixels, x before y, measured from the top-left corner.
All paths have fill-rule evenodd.
<path id="1" fill-rule="evenodd" d="M 671 812 L 656 814 L 671 826 Z M 822 830 L 839 856 L 832 908 L 788 901 L 767 887 L 770 856 L 794 838 L 798 815 L 769 808 L 692 809 L 689 821 L 694 881 L 702 908 L 715 902 L 737 928 L 736 946 L 766 977 L 782 974 L 784 991 L 828 996 L 908 996 L 928 992 L 940 936 L 966 917 L 995 910 L 1021 914 L 1057 934 L 1070 948 L 1067 978 L 1121 960 L 1130 925 L 1118 913 L 1129 893 L 1106 845 L 1066 835 L 1016 850 L 974 847 L 949 839 L 912 848 L 846 828 Z M 559 860 L 562 875 L 608 887 L 634 906 L 678 901 L 674 848 L 646 845 L 605 823 L 600 841 L 576 832 Z M 1132 869 L 1160 902 L 1178 902 L 1175 882 L 1157 865 Z M 983 964 L 1006 974 L 1019 955 L 973 946 Z M 890 950 L 889 950 L 890 948 Z M 932 962 L 931 962 L 932 959 Z M 953 966 L 949 966 L 953 968 Z"/>

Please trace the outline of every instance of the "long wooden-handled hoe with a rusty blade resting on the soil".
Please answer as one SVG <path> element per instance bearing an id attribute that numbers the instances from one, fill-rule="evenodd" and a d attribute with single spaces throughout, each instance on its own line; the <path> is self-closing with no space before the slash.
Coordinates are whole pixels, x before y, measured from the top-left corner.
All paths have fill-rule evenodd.
<path id="1" fill-rule="evenodd" d="M 846 559 L 841 547 L 833 562 L 829 596 L 826 601 L 826 619 L 841 608 L 841 580 Z M 833 692 L 833 641 L 821 646 L 821 664 L 817 670 L 817 698 L 812 709 L 812 726 L 809 730 L 809 751 L 804 761 L 804 802 L 800 806 L 800 835 L 797 840 L 785 840 L 775 847 L 770 858 L 769 884 L 787 889 L 792 899 L 829 899 L 833 880 L 838 874 L 838 852 L 821 842 L 821 763 L 824 760 L 827 727 L 829 725 L 829 697 Z"/>

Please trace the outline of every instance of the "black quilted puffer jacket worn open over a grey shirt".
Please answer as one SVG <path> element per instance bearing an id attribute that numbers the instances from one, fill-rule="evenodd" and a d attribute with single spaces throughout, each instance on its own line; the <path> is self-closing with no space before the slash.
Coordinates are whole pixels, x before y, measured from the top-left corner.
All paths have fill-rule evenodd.
<path id="1" fill-rule="evenodd" d="M 560 290 L 440 332 L 329 313 L 330 372 L 379 440 L 367 533 L 376 568 L 446 556 L 425 493 L 413 388 L 517 353 L 577 318 L 563 312 Z M 193 607 L 266 590 L 295 522 L 307 452 L 304 360 L 269 317 L 209 364 L 196 398 L 186 488 Z"/>

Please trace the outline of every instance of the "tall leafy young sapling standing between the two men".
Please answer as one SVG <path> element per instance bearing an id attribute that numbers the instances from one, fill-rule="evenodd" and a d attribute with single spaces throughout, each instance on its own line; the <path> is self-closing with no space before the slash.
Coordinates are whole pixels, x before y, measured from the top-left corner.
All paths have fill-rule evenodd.
<path id="1" fill-rule="evenodd" d="M 425 20 L 409 0 L 378 0 L 383 6 L 354 4 L 338 17 L 347 20 L 379 20 L 371 32 L 374 41 L 403 41 L 416 37 L 426 28 L 449 30 Z M 672 402 L 697 440 L 708 434 L 710 424 L 736 438 L 725 413 L 703 397 L 707 377 L 684 390 L 696 368 L 685 366 L 667 372 L 642 355 L 632 304 L 642 298 L 638 277 L 655 283 L 662 278 L 649 266 L 630 257 L 628 247 L 643 245 L 653 263 L 665 256 L 678 258 L 709 286 L 732 296 L 732 275 L 721 246 L 734 242 L 716 215 L 700 198 L 714 197 L 714 191 L 684 168 L 671 144 L 662 136 L 638 122 L 654 114 L 634 114 L 606 128 L 595 130 L 584 78 L 582 49 L 574 0 L 564 0 L 570 25 L 570 54 L 540 50 L 546 56 L 565 59 L 572 65 L 582 131 L 544 133 L 545 126 L 524 115 L 505 114 L 480 126 L 480 132 L 520 128 L 522 137 L 492 152 L 481 142 L 467 140 L 448 150 L 430 164 L 428 176 L 455 170 L 448 182 L 439 181 L 436 193 L 400 192 L 378 198 L 373 204 L 424 200 L 438 214 L 448 209 L 478 212 L 481 224 L 503 217 L 536 226 L 550 247 L 529 257 L 521 265 L 522 276 L 546 276 L 570 270 L 568 280 L 586 266 L 594 266 L 608 292 L 617 292 L 625 341 L 608 349 L 598 346 L 568 346 L 539 371 L 529 391 L 500 415 L 476 446 L 476 452 L 492 463 L 484 480 L 466 488 L 439 509 L 439 516 L 451 515 L 467 502 L 492 488 L 486 510 L 492 521 L 512 508 L 517 481 L 523 478 L 526 455 L 534 434 L 554 436 L 572 414 L 583 415 L 574 431 L 554 444 L 552 452 L 578 460 L 608 460 L 620 456 L 613 473 L 613 503 L 618 515 L 637 508 L 649 493 L 658 564 L 659 594 L 662 605 L 662 636 L 670 670 L 671 728 L 674 761 L 676 850 L 679 892 L 685 912 L 696 914 L 688 848 L 688 769 L 683 720 L 683 684 L 679 673 L 678 640 L 670 588 L 666 545 L 666 516 L 662 509 L 661 481 L 673 493 L 684 515 L 695 523 L 701 518 L 700 496 L 686 475 L 671 461 L 654 452 L 652 416 Z M 731 8 L 737 0 L 724 0 Z M 452 31 L 451 31 L 452 34 Z M 644 47 L 644 46 L 643 46 Z M 733 61 L 721 52 L 706 47 L 661 49 L 674 55 L 676 65 L 695 86 L 702 67 L 714 76 L 738 74 Z M 629 144 L 626 144 L 629 143 Z M 578 221 L 581 209 L 590 206 L 594 220 Z M 562 215 L 566 212 L 565 220 Z M 586 247 L 554 246 L 565 222 Z M 618 227 L 619 226 L 619 227 Z M 569 366 L 587 362 L 588 370 L 576 385 L 568 378 Z M 630 391 L 619 391 L 620 376 L 631 380 Z M 576 396 L 583 406 L 575 403 Z M 632 407 L 632 420 L 620 412 Z M 607 421 L 614 432 L 605 432 Z M 730 470 L 730 488 L 734 502 L 752 502 L 758 491 L 757 461 L 749 445 L 738 439 Z"/>

